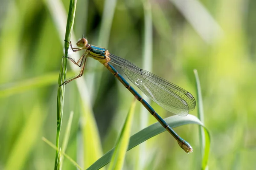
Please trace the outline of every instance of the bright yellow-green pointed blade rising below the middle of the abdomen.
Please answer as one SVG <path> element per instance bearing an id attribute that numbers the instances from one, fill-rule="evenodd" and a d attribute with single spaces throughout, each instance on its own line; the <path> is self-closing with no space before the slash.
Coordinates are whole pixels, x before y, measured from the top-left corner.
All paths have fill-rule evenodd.
<path id="1" fill-rule="evenodd" d="M 136 98 L 134 98 L 128 115 L 125 119 L 125 123 L 122 127 L 119 139 L 116 143 L 115 150 L 113 151 L 113 156 L 111 158 L 111 163 L 109 165 L 109 170 L 121 170 L 125 161 L 125 153 L 129 144 L 129 137 L 131 133 L 131 125 L 134 116 L 134 109 L 136 105 Z"/>

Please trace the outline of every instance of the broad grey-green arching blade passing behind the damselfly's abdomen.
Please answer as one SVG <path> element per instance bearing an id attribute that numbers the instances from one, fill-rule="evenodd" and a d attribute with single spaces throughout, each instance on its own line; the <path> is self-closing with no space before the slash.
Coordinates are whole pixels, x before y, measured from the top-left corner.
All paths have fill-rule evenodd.
<path id="1" fill-rule="evenodd" d="M 196 124 L 196 125 L 204 126 L 203 123 L 196 116 L 193 116 L 190 114 L 185 117 L 177 116 L 177 115 L 170 116 L 164 120 L 172 128 L 182 126 L 182 125 L 188 125 L 188 124 Z M 157 134 L 165 132 L 165 131 L 166 130 L 163 128 L 162 125 L 160 125 L 159 122 L 154 123 L 153 125 L 150 125 L 143 130 L 140 130 L 138 133 L 131 136 L 130 142 L 128 145 L 128 150 L 130 150 L 133 147 L 137 146 L 138 144 L 141 144 L 142 142 L 150 139 L 151 137 L 156 136 Z M 208 131 L 207 131 L 207 133 L 208 133 Z M 114 150 L 114 148 L 111 149 L 110 151 L 108 151 L 108 153 L 106 153 L 99 160 L 97 160 L 87 170 L 98 170 L 101 167 L 104 167 L 106 164 L 108 164 L 111 159 L 111 156 L 113 154 L 113 150 Z"/>

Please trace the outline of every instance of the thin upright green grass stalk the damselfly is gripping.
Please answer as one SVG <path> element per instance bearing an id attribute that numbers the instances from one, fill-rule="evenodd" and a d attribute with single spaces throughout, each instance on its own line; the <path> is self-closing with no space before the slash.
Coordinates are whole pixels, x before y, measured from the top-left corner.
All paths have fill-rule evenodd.
<path id="1" fill-rule="evenodd" d="M 75 19 L 75 12 L 76 12 L 76 0 L 70 0 L 70 7 L 67 16 L 67 26 L 66 26 L 66 34 L 65 40 L 70 41 L 71 33 L 73 30 L 74 19 Z M 62 58 L 60 74 L 58 78 L 58 84 L 61 85 L 66 79 L 67 73 L 67 54 L 68 54 L 68 46 L 67 42 L 64 42 L 64 49 L 65 49 L 65 57 Z M 63 115 L 63 107 L 64 107 L 64 92 L 65 92 L 65 85 L 58 87 L 58 94 L 57 94 L 57 133 L 56 133 L 56 147 L 59 148 L 59 138 L 61 132 L 61 123 L 62 123 L 62 115 Z M 57 167 L 60 167 L 61 164 L 59 160 L 59 151 L 56 150 L 55 156 L 55 166 L 54 169 L 57 170 Z"/>

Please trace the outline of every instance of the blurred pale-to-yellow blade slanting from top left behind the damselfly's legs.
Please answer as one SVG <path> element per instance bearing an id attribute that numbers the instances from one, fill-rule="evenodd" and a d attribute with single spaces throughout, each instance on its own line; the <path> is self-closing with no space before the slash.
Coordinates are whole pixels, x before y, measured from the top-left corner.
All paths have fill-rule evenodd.
<path id="1" fill-rule="evenodd" d="M 65 13 L 65 9 L 60 0 L 45 0 L 46 6 L 48 7 L 50 14 L 52 15 L 55 27 L 59 32 L 59 37 L 61 40 L 62 35 L 64 35 L 64 20 L 67 16 Z M 52 3 L 54 2 L 54 3 Z M 63 33 L 63 34 L 62 34 Z M 76 38 L 74 35 L 72 41 Z M 78 58 L 79 53 L 72 53 L 72 58 Z M 76 65 L 72 62 L 70 63 L 70 67 L 73 71 L 76 70 Z M 102 156 L 102 145 L 99 136 L 99 130 L 93 115 L 92 104 L 88 97 L 89 91 L 87 88 L 87 84 L 84 79 L 76 79 L 75 80 L 80 97 L 81 97 L 81 105 L 82 105 L 82 115 L 81 115 L 81 129 L 83 132 L 83 148 L 84 148 L 84 167 L 91 165 L 100 156 Z M 80 159 L 79 159 L 80 160 Z"/>

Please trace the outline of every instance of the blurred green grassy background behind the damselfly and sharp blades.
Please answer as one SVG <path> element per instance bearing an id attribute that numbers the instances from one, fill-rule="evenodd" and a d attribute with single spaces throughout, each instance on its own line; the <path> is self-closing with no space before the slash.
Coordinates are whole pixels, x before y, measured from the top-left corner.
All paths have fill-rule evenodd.
<path id="1" fill-rule="evenodd" d="M 56 139 L 58 74 L 69 0 L 0 4 L 0 169 L 53 169 L 55 150 L 41 138 L 52 143 Z M 209 169 L 250 170 L 256 167 L 255 9 L 255 0 L 78 0 L 72 40 L 84 34 L 89 43 L 195 97 L 197 69 L 204 124 L 211 134 Z M 67 76 L 78 73 L 69 67 Z M 96 161 L 90 160 L 90 150 L 85 151 L 88 161 L 81 161 L 82 150 L 93 147 L 95 140 L 87 136 L 90 129 L 84 129 L 87 113 L 95 116 L 97 126 L 91 128 L 99 133 L 98 149 L 106 153 L 116 142 L 133 96 L 90 58 L 81 79 L 83 91 L 77 82 L 66 86 L 60 142 L 74 111 L 66 153 L 86 168 Z M 151 104 L 162 117 L 172 115 Z M 133 134 L 156 122 L 141 112 L 138 103 Z M 197 115 L 197 108 L 191 114 Z M 189 141 L 193 153 L 184 153 L 164 132 L 128 151 L 123 169 L 201 169 L 198 125 L 175 131 Z M 64 159 L 63 169 L 76 167 Z"/>

